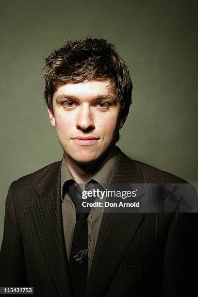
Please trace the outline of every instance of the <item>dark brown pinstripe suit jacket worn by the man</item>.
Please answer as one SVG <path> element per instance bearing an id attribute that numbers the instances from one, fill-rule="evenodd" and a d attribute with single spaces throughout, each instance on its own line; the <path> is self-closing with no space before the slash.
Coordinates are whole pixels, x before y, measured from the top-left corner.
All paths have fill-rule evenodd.
<path id="1" fill-rule="evenodd" d="M 34 296 L 72 296 L 60 173 L 61 161 L 11 184 L 0 252 L 0 286 L 33 286 Z M 120 151 L 113 183 L 125 182 L 184 181 L 132 161 Z M 186 297 L 194 285 L 193 263 L 197 264 L 196 224 L 197 214 L 105 213 L 86 297 Z"/>

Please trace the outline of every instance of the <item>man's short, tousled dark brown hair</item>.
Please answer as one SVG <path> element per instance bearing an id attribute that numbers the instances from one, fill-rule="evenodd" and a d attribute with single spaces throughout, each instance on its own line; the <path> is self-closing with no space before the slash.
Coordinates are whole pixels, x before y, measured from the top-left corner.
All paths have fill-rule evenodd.
<path id="1" fill-rule="evenodd" d="M 46 58 L 45 91 L 47 105 L 53 110 L 52 99 L 58 82 L 78 83 L 93 78 L 109 78 L 122 113 L 132 103 L 132 81 L 129 69 L 115 47 L 103 38 L 67 41 Z"/>

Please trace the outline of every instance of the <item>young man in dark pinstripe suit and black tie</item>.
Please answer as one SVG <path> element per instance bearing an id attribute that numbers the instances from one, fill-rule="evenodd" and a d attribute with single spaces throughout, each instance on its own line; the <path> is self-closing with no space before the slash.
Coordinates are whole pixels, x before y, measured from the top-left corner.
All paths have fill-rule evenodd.
<path id="1" fill-rule="evenodd" d="M 76 212 L 78 193 L 93 184 L 185 182 L 115 146 L 131 104 L 126 64 L 105 39 L 87 38 L 54 50 L 45 70 L 64 157 L 11 184 L 0 285 L 50 297 L 186 296 L 197 216 Z"/>

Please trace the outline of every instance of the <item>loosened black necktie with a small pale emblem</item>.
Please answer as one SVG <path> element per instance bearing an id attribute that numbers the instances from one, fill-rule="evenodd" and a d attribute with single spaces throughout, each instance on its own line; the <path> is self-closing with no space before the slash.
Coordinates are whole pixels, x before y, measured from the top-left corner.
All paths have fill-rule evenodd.
<path id="1" fill-rule="evenodd" d="M 77 193 L 79 195 L 82 191 L 79 188 L 76 190 L 73 184 L 69 185 L 68 195 L 74 202 L 76 210 L 79 210 L 81 209 L 83 200 L 78 198 Z M 83 297 L 86 291 L 88 272 L 88 215 L 89 212 L 76 212 L 76 224 L 69 258 L 69 270 L 75 297 Z"/>

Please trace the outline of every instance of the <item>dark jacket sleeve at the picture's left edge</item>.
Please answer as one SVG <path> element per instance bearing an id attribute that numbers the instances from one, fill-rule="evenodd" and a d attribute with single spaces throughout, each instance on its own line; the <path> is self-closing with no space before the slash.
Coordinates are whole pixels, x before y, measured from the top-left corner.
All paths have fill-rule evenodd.
<path id="1" fill-rule="evenodd" d="M 28 285 L 23 243 L 17 225 L 12 197 L 12 182 L 5 204 L 3 240 L 0 250 L 0 286 Z"/>

